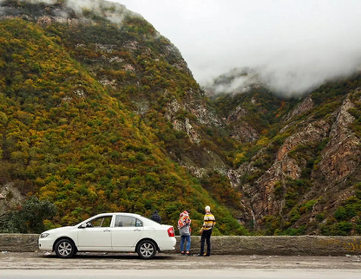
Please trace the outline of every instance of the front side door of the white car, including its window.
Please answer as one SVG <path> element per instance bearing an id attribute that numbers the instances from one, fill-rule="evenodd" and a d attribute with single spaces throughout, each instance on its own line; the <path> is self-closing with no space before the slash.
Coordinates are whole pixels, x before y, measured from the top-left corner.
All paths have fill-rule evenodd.
<path id="1" fill-rule="evenodd" d="M 79 251 L 111 251 L 110 226 L 113 215 L 103 215 L 92 219 L 85 228 L 78 228 Z"/>

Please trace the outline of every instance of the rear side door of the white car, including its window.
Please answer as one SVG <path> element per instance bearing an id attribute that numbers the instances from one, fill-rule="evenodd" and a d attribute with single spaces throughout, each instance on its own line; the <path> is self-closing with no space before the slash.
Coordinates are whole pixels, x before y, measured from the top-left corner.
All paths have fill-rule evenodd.
<path id="1" fill-rule="evenodd" d="M 117 214 L 111 232 L 113 251 L 134 252 L 142 233 L 142 221 L 132 216 Z"/>

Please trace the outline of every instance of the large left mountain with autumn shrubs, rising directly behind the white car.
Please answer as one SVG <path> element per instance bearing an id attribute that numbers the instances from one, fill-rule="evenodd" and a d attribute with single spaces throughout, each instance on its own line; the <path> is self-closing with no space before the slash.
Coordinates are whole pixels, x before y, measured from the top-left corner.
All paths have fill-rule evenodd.
<path id="1" fill-rule="evenodd" d="M 189 209 L 195 234 L 209 204 L 216 234 L 247 233 L 235 218 L 243 208 L 225 176 L 225 151 L 215 143 L 229 143 L 217 137 L 223 122 L 177 48 L 119 4 L 33 2 L 1 3 L 6 199 L 54 202 L 49 228 L 99 212 L 150 216 L 155 209 L 176 225 Z M 184 167 L 196 164 L 210 175 L 197 179 Z"/>

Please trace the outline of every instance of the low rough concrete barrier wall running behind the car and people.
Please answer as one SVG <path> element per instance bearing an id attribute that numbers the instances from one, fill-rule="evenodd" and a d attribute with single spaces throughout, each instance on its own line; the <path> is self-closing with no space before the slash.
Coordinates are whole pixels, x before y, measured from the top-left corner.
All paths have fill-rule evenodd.
<path id="1" fill-rule="evenodd" d="M 174 253 L 179 253 L 179 236 Z M 361 236 L 213 236 L 212 254 L 318 255 L 361 254 Z M 199 253 L 200 237 L 192 236 L 191 253 Z M 34 252 L 38 235 L 0 234 L 0 251 Z"/>

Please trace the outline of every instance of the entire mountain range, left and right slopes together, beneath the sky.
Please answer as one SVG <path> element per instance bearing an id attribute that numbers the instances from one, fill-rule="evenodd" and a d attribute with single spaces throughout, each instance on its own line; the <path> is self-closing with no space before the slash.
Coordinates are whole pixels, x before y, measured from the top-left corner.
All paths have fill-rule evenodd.
<path id="1" fill-rule="evenodd" d="M 294 98 L 248 68 L 200 87 L 125 6 L 47 3 L 1 2 L 1 211 L 190 209 L 197 234 L 209 204 L 216 234 L 361 233 L 361 74 Z"/>

